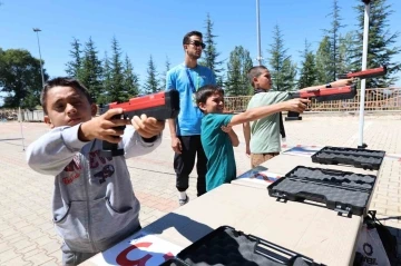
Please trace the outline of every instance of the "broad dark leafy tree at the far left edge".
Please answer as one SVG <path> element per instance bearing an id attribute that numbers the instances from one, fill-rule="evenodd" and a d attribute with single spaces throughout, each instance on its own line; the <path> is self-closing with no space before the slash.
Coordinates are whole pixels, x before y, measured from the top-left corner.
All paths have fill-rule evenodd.
<path id="1" fill-rule="evenodd" d="M 45 81 L 49 79 L 46 69 L 43 76 Z M 40 105 L 41 88 L 39 59 L 27 50 L 0 49 L 0 92 L 6 93 L 3 107 L 35 108 Z"/>

